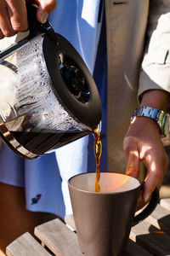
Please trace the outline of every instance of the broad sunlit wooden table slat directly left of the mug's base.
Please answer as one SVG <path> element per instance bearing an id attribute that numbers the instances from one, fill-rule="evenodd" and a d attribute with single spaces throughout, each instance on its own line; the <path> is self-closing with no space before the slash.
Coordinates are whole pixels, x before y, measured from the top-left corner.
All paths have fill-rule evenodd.
<path id="1" fill-rule="evenodd" d="M 69 230 L 59 218 L 48 221 L 35 228 L 35 235 L 55 255 L 82 256 L 77 241 L 77 235 Z"/>

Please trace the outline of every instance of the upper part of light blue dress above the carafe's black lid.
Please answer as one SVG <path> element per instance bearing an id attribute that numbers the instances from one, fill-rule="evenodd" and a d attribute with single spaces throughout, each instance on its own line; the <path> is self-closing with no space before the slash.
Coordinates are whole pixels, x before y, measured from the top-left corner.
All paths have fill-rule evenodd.
<path id="1" fill-rule="evenodd" d="M 100 0 L 58 0 L 49 16 L 54 31 L 65 37 L 77 49 L 91 73 L 99 44 L 101 20 Z"/>

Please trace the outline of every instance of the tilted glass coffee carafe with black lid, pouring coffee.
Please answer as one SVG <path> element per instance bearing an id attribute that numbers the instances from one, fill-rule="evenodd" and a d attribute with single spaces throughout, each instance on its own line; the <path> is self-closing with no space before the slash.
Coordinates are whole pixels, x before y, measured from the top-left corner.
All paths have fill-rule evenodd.
<path id="1" fill-rule="evenodd" d="M 77 50 L 27 7 L 29 35 L 0 52 L 0 135 L 34 159 L 93 132 L 101 102 Z"/>

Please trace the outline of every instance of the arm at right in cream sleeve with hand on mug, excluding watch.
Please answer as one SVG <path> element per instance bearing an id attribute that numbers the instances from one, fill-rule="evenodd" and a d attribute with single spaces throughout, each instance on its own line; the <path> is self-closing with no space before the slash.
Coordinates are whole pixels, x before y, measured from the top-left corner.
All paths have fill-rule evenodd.
<path id="1" fill-rule="evenodd" d="M 150 1 L 149 44 L 145 50 L 139 79 L 140 106 L 167 112 L 170 103 L 170 3 Z M 160 188 L 167 172 L 168 157 L 161 143 L 159 127 L 153 119 L 136 117 L 124 138 L 127 174 L 139 177 L 139 162 L 147 169 L 143 201 Z"/>

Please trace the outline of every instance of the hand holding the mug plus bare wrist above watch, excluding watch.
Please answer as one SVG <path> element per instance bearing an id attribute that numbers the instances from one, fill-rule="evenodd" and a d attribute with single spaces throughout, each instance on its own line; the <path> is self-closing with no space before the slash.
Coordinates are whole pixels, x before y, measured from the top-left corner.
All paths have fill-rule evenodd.
<path id="1" fill-rule="evenodd" d="M 170 94 L 163 90 L 148 90 L 144 93 L 140 106 L 149 106 L 167 112 Z M 140 161 L 147 169 L 143 205 L 149 201 L 151 193 L 161 183 L 169 165 L 167 153 L 161 143 L 160 128 L 156 121 L 147 117 L 135 117 L 124 137 L 127 156 L 127 174 L 139 177 Z"/>

